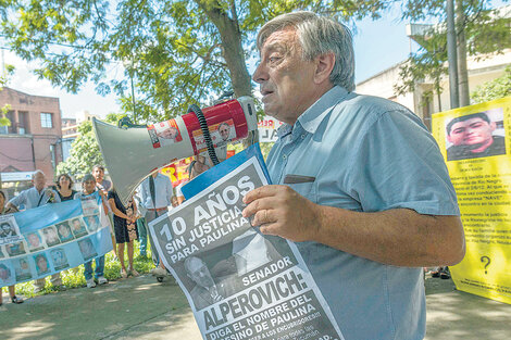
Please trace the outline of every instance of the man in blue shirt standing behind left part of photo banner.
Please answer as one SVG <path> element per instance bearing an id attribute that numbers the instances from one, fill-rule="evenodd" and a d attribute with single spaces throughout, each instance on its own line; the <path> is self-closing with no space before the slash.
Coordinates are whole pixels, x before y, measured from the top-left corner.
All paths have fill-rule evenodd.
<path id="1" fill-rule="evenodd" d="M 46 176 L 40 169 L 32 175 L 33 188 L 20 192 L 18 196 L 11 199 L 7 207 L 20 209 L 25 205 L 25 209 L 33 209 L 45 205 L 47 203 L 60 202 L 60 197 L 55 191 L 46 188 Z M 34 292 L 37 293 L 45 289 L 46 278 L 37 279 L 34 284 Z M 65 286 L 62 285 L 60 274 L 51 276 L 51 284 L 59 290 L 64 290 Z"/>

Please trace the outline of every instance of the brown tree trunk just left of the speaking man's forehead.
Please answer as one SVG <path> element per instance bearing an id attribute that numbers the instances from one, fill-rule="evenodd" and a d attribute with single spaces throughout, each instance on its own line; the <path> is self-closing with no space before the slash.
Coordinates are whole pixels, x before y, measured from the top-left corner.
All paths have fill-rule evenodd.
<path id="1" fill-rule="evenodd" d="M 220 5 L 215 8 L 213 4 L 204 2 L 198 1 L 198 4 L 219 29 L 222 40 L 222 54 L 229 70 L 234 93 L 236 97 L 251 96 L 252 85 L 245 62 L 238 22 L 228 17 L 227 13 Z"/>

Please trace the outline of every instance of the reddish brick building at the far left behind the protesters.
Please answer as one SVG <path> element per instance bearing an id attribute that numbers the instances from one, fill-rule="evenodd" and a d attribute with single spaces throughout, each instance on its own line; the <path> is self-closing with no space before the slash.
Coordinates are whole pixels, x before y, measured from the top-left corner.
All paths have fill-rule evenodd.
<path id="1" fill-rule="evenodd" d="M 0 175 L 2 188 L 12 196 L 30 186 L 26 178 L 35 169 L 45 172 L 52 182 L 62 161 L 62 122 L 59 98 L 4 87 L 0 108 L 5 104 L 11 106 L 7 115 L 11 126 L 0 127 Z"/>

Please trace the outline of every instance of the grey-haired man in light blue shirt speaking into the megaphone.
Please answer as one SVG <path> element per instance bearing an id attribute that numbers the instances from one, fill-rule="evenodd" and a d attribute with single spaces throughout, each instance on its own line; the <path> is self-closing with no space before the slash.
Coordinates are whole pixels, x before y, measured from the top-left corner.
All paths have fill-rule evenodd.
<path id="1" fill-rule="evenodd" d="M 286 124 L 267 159 L 275 185 L 247 193 L 244 216 L 297 242 L 346 339 L 422 339 L 422 267 L 464 255 L 438 146 L 406 108 L 352 92 L 345 26 L 289 13 L 261 28 L 258 47 L 252 78 Z"/>

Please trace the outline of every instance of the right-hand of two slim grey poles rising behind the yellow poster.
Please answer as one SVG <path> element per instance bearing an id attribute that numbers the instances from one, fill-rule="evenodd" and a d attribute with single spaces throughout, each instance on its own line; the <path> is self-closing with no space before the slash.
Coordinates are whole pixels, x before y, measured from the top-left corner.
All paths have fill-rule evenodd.
<path id="1" fill-rule="evenodd" d="M 466 68 L 466 39 L 465 39 L 465 13 L 463 0 L 456 2 L 456 23 L 458 36 L 458 84 L 460 91 L 460 106 L 470 105 L 469 71 Z"/>

